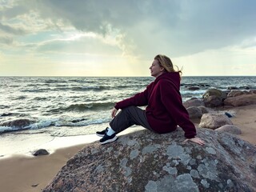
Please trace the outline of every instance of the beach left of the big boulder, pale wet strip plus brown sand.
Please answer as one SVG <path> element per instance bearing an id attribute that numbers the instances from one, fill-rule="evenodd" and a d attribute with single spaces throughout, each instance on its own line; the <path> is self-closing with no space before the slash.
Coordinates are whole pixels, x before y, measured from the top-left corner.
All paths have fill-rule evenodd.
<path id="1" fill-rule="evenodd" d="M 27 136 L 26 136 L 27 137 Z M 66 164 L 66 161 L 82 150 L 86 143 L 98 139 L 96 135 L 50 138 L 23 138 L 15 142 L 1 139 L 0 186 L 5 192 L 41 191 Z M 49 155 L 33 156 L 32 152 L 46 149 Z"/>

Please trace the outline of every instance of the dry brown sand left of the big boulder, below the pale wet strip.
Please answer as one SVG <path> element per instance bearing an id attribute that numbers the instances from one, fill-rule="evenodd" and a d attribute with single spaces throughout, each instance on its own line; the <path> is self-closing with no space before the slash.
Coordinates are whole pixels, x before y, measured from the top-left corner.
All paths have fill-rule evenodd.
<path id="1" fill-rule="evenodd" d="M 66 147 L 40 157 L 14 156 L 0 160 L 1 191 L 41 191 L 85 145 Z"/>

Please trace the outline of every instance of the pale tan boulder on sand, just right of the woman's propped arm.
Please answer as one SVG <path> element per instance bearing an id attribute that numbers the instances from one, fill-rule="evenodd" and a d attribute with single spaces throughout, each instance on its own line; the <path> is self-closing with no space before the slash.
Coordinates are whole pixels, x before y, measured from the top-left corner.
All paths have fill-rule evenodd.
<path id="1" fill-rule="evenodd" d="M 233 125 L 233 122 L 225 114 L 203 114 L 198 126 L 215 130 L 225 125 Z"/>

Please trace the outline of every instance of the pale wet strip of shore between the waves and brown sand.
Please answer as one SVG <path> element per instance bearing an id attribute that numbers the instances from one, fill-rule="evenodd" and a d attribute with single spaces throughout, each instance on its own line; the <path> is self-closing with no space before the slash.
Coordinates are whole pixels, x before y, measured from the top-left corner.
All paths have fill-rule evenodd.
<path id="1" fill-rule="evenodd" d="M 56 150 L 66 147 L 84 145 L 89 142 L 97 141 L 95 134 L 53 137 L 49 134 L 37 134 L 30 137 L 29 134 L 8 135 L 0 140 L 0 161 L 13 156 L 24 156 L 33 158 L 33 152 L 45 149 L 50 154 Z"/>

